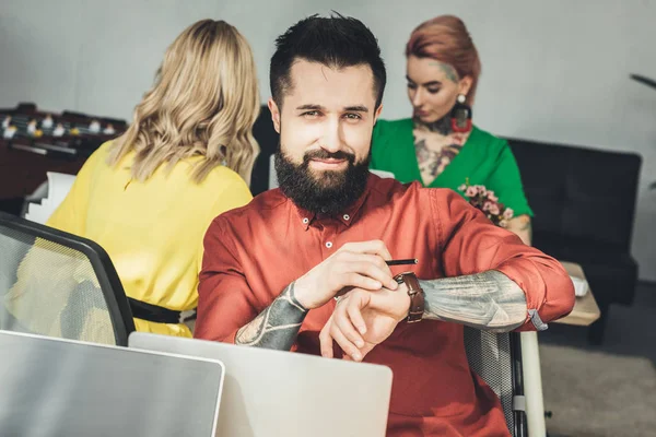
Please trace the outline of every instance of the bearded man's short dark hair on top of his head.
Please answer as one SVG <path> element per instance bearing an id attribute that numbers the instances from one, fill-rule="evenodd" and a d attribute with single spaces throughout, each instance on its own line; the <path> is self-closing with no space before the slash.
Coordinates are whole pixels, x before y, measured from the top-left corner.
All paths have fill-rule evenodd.
<path id="1" fill-rule="evenodd" d="M 360 20 L 337 12 L 330 17 L 318 14 L 303 19 L 276 39 L 269 84 L 278 106 L 292 86 L 290 71 L 296 59 L 319 62 L 330 68 L 366 64 L 374 73 L 376 108 L 383 102 L 387 74 L 378 40 Z"/>

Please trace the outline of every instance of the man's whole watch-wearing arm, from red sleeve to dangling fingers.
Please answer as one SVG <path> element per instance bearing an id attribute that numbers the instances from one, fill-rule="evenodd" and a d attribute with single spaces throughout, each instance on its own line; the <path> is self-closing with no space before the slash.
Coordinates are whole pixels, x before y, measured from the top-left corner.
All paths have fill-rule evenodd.
<path id="1" fill-rule="evenodd" d="M 435 265 L 444 276 L 420 281 L 425 319 L 490 331 L 543 330 L 572 310 L 574 288 L 560 262 L 492 225 L 454 191 L 425 192 L 441 241 Z M 337 342 L 352 359 L 362 359 L 408 317 L 405 291 L 353 290 L 340 298 L 319 335 L 321 354 L 331 356 Z"/>

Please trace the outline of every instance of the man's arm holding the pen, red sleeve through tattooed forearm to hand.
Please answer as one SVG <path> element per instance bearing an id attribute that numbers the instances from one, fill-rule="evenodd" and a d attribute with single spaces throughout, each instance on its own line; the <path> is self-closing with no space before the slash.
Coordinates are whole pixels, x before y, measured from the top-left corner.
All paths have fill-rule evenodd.
<path id="1" fill-rule="evenodd" d="M 385 263 L 391 256 L 379 240 L 344 244 L 301 277 L 295 281 L 290 277 L 288 281 L 293 285 L 280 295 L 277 293 L 282 286 L 278 290 L 253 287 L 248 277 L 261 274 L 259 264 L 257 259 L 236 255 L 232 237 L 235 231 L 231 226 L 225 216 L 220 215 L 206 233 L 196 339 L 290 350 L 307 310 L 324 306 L 343 288 L 398 287 Z M 253 270 L 248 265 L 254 262 L 258 272 L 249 273 Z"/>

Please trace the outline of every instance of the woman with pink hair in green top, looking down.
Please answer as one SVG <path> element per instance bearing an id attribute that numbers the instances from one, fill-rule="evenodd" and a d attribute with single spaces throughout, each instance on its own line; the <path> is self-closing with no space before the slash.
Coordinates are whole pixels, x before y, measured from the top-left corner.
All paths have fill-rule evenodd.
<path id="1" fill-rule="evenodd" d="M 420 24 L 406 45 L 406 60 L 413 115 L 378 120 L 371 167 L 425 187 L 484 186 L 514 211 L 508 231 L 530 244 L 532 211 L 513 152 L 471 122 L 481 62 L 465 23 L 442 15 Z"/>

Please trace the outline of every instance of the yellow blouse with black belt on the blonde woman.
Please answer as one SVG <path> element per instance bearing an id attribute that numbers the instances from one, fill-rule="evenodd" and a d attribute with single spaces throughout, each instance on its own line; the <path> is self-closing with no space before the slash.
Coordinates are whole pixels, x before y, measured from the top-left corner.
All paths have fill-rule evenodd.
<path id="1" fill-rule="evenodd" d="M 133 154 L 110 167 L 110 145 L 84 163 L 47 225 L 101 245 L 129 297 L 176 311 L 196 308 L 206 231 L 216 215 L 250 201 L 248 186 L 224 166 L 194 182 L 200 156 L 162 165 L 145 182 L 132 180 Z M 191 336 L 181 323 L 134 323 L 138 331 Z"/>

